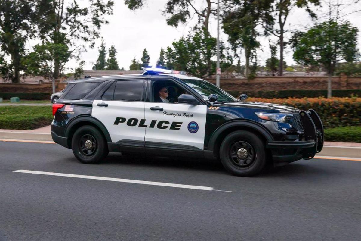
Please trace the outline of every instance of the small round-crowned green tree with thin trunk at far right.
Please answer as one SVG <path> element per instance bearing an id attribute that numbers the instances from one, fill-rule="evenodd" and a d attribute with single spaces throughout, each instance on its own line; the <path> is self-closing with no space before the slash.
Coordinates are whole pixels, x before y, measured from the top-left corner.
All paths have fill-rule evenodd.
<path id="1" fill-rule="evenodd" d="M 323 66 L 328 72 L 327 98 L 332 96 L 332 74 L 339 61 L 353 62 L 360 56 L 357 27 L 334 20 L 322 22 L 292 37 L 293 59 L 300 64 Z"/>

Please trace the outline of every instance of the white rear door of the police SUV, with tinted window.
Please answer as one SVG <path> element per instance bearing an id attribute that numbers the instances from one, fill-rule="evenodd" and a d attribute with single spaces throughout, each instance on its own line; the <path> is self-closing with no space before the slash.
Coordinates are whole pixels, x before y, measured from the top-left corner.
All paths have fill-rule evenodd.
<path id="1" fill-rule="evenodd" d="M 92 116 L 108 130 L 112 142 L 144 145 L 144 79 L 117 80 L 93 102 Z"/>

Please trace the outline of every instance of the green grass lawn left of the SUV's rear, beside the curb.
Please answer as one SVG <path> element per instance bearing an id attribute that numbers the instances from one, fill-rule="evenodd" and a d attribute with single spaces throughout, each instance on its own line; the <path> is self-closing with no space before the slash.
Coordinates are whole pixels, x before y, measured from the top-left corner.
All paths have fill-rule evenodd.
<path id="1" fill-rule="evenodd" d="M 0 129 L 32 130 L 52 120 L 51 106 L 0 106 Z"/>

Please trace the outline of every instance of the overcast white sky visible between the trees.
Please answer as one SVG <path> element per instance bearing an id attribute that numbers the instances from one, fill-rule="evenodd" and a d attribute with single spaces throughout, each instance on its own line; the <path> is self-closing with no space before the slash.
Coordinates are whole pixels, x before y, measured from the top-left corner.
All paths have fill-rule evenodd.
<path id="1" fill-rule="evenodd" d="M 123 0 L 116 0 L 114 2 L 114 14 L 106 17 L 109 24 L 101 28 L 101 36 L 105 40 L 107 50 L 112 44 L 116 47 L 119 68 L 124 67 L 126 70 L 129 70 L 130 62 L 134 56 L 140 61 L 144 48 L 147 48 L 151 58 L 150 65 L 155 66 L 160 48 L 171 46 L 174 40 L 187 35 L 196 21 L 196 17 L 194 17 L 186 25 L 181 25 L 177 28 L 168 26 L 165 21 L 166 17 L 161 12 L 167 0 L 148 0 L 148 3 L 142 9 L 136 11 L 129 10 Z M 315 10 L 319 16 L 322 16 L 326 13 L 327 8 L 317 8 Z M 361 10 L 361 1 L 344 9 L 344 13 L 355 10 Z M 349 14 L 345 19 L 361 30 L 361 12 Z M 287 19 L 285 29 L 303 30 L 305 27 L 312 26 L 313 24 L 314 22 L 310 20 L 305 10 L 295 8 Z M 210 21 L 209 30 L 212 36 L 217 36 L 216 19 L 213 18 Z M 226 41 L 227 35 L 221 33 L 221 40 Z M 271 37 L 271 40 L 276 41 L 277 39 Z M 262 37 L 259 38 L 259 41 L 262 44 L 262 48 L 257 52 L 258 64 L 264 65 L 265 60 L 270 57 L 268 38 Z M 82 59 L 85 61 L 84 70 L 92 69 L 93 64 L 91 62 L 97 60 L 99 54 L 97 48 L 99 45 L 100 39 L 97 40 L 95 48 L 88 48 L 87 52 L 82 53 Z M 358 48 L 361 49 L 361 32 L 359 32 L 358 37 Z M 288 65 L 295 64 L 292 60 L 292 51 L 289 48 L 286 48 L 284 58 Z M 241 55 L 240 60 L 244 64 L 243 55 Z M 235 59 L 234 61 L 236 63 L 237 60 Z M 75 68 L 77 65 L 75 60 L 69 61 L 66 65 L 69 69 L 65 70 L 65 72 L 71 72 L 71 68 Z"/>

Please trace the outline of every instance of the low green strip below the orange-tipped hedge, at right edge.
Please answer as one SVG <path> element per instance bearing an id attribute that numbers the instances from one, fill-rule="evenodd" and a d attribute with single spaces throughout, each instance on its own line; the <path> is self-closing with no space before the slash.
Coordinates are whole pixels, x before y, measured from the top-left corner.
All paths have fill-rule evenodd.
<path id="1" fill-rule="evenodd" d="M 361 142 L 361 126 L 325 129 L 325 141 Z"/>

